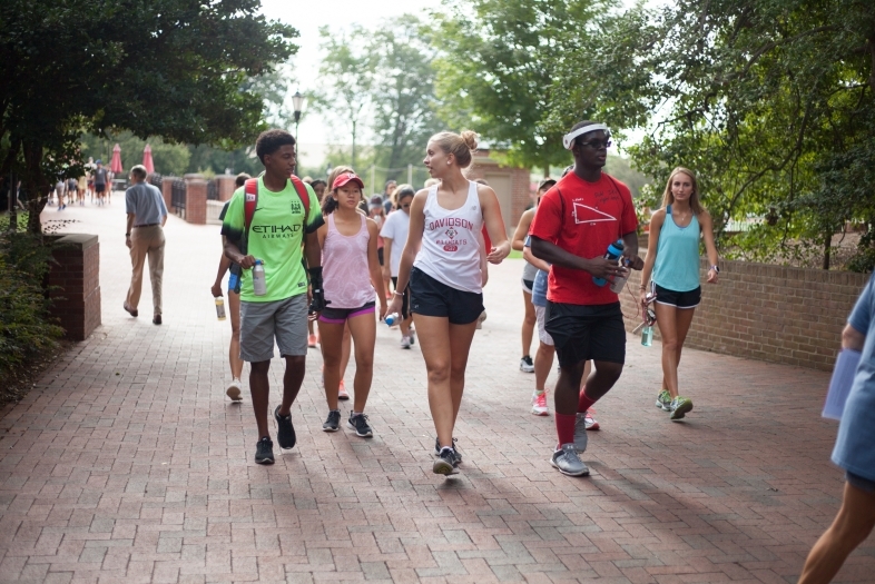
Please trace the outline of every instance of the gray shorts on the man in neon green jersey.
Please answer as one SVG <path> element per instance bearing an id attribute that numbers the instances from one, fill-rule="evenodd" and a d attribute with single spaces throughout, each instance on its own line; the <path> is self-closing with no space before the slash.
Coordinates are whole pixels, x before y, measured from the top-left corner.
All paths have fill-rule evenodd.
<path id="1" fill-rule="evenodd" d="M 273 359 L 274 338 L 281 357 L 306 355 L 307 308 L 306 294 L 273 303 L 240 301 L 240 359 Z"/>

